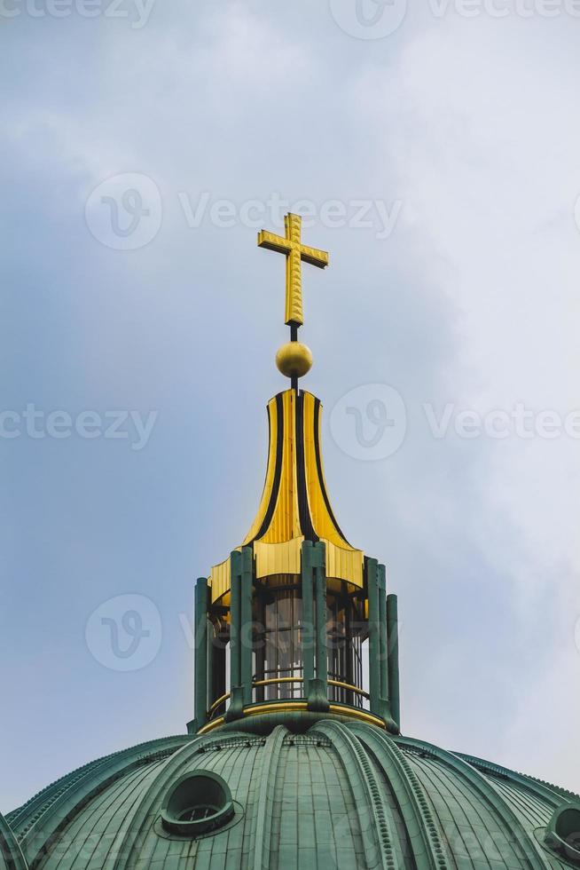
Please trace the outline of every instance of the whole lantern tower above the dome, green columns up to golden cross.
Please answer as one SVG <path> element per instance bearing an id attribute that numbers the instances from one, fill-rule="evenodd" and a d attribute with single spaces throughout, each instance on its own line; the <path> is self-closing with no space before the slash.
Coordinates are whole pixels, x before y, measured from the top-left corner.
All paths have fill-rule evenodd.
<path id="1" fill-rule="evenodd" d="M 329 257 L 302 244 L 301 218 L 288 214 L 285 223 L 284 237 L 263 230 L 258 245 L 286 257 L 290 341 L 276 362 L 292 384 L 268 403 L 268 463 L 254 522 L 196 584 L 188 727 L 302 731 L 330 717 L 397 733 L 396 597 L 386 597 L 385 566 L 353 547 L 336 521 L 322 460 L 322 405 L 298 389 L 312 365 L 298 341 L 302 263 L 325 268 Z"/>

